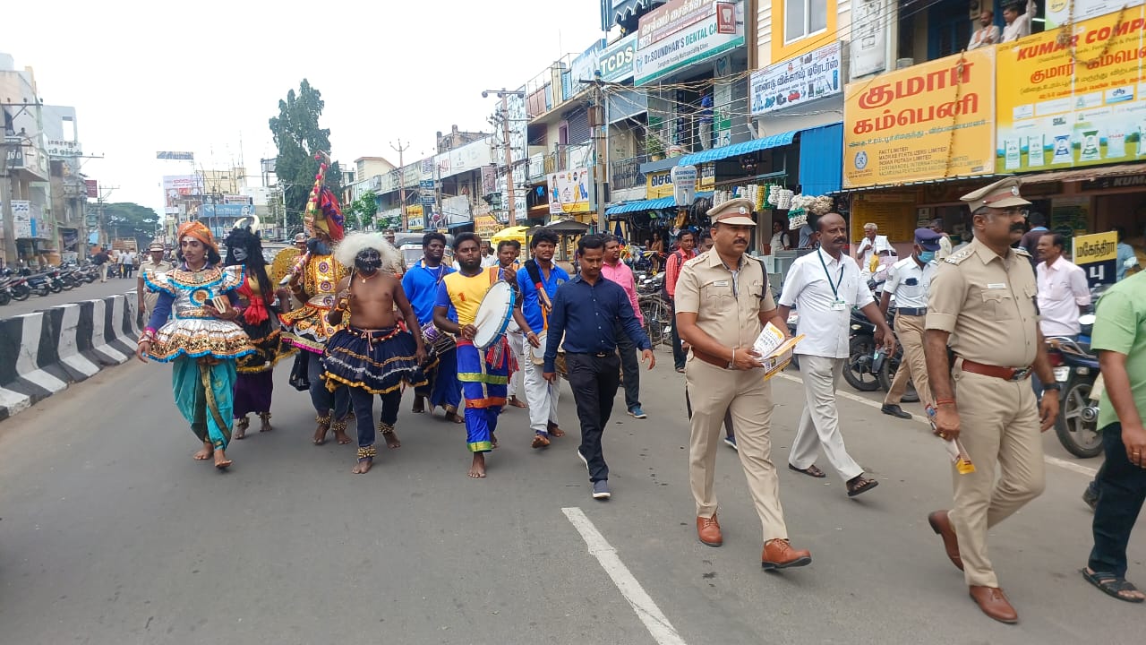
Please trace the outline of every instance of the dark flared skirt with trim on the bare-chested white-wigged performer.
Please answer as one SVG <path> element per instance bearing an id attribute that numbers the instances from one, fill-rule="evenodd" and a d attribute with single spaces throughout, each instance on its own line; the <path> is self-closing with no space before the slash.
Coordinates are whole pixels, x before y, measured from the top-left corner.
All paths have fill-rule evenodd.
<path id="1" fill-rule="evenodd" d="M 327 388 L 333 391 L 345 384 L 371 394 L 386 394 L 402 387 L 403 382 L 422 386 L 426 378 L 416 352 L 414 336 L 398 327 L 339 329 L 322 355 Z"/>

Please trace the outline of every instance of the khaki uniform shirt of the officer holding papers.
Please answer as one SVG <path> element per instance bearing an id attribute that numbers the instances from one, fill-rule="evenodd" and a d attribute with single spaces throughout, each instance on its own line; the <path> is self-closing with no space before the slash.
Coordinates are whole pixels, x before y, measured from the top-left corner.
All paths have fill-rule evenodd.
<path id="1" fill-rule="evenodd" d="M 760 261 L 740 257 L 738 274 L 709 250 L 684 263 L 676 282 L 676 311 L 697 314 L 697 327 L 724 347 L 752 347 L 763 326 L 760 312 L 776 309 Z"/>

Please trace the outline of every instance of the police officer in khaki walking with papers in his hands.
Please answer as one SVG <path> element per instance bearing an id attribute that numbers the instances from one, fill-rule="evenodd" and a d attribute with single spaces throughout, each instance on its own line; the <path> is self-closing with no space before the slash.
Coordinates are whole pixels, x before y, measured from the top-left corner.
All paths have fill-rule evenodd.
<path id="1" fill-rule="evenodd" d="M 676 283 L 676 325 L 691 345 L 685 383 L 692 403 L 689 483 L 697 503 L 697 536 L 708 546 L 723 544 L 716 521 L 713 477 L 724 413 L 736 426 L 740 464 L 764 530 L 764 569 L 801 567 L 811 553 L 788 543 L 779 482 L 771 460 L 771 384 L 763 380 L 752 345 L 776 313 L 763 265 L 745 255 L 755 232 L 751 200 L 730 200 L 708 211 L 713 248 L 690 259 Z"/>

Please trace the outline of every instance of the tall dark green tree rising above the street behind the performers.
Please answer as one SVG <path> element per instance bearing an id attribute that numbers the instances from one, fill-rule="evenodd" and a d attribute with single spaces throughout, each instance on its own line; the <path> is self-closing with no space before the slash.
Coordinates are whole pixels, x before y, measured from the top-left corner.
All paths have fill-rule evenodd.
<path id="1" fill-rule="evenodd" d="M 303 224 L 306 200 L 314 187 L 314 176 L 319 172 L 315 153 L 330 151 L 330 130 L 319 127 L 324 106 L 322 93 L 304 78 L 298 94 L 291 90 L 286 93 L 285 101 L 278 101 L 278 116 L 269 122 L 275 147 L 278 148 L 275 174 L 278 182 L 286 187 L 284 202 L 288 227 Z M 338 164 L 331 164 L 327 170 L 325 184 L 336 195 L 342 194 L 342 179 Z"/>

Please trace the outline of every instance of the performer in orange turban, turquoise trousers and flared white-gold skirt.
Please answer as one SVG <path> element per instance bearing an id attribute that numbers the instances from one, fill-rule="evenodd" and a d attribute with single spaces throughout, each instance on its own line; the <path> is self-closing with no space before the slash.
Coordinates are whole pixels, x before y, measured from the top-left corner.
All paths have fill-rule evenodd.
<path id="1" fill-rule="evenodd" d="M 148 273 L 148 289 L 158 292 L 151 320 L 140 336 L 135 356 L 174 366 L 175 406 L 203 442 L 196 459 L 214 457 L 215 468 L 230 466 L 231 394 L 235 360 L 254 352 L 236 317 L 234 292 L 243 285 L 243 270 L 223 269 L 211 232 L 199 222 L 179 227 L 178 266 Z M 171 320 L 167 320 L 168 317 Z M 157 329 L 158 327 L 158 329 Z"/>

